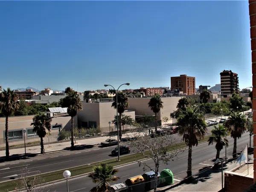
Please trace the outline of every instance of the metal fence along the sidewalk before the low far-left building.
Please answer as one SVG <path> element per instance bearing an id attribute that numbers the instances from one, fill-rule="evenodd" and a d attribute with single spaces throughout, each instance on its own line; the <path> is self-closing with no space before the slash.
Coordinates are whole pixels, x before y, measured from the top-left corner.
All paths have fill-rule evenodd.
<path id="1" fill-rule="evenodd" d="M 52 132 L 50 134 L 47 134 L 44 137 L 44 144 L 48 143 L 53 143 L 58 141 L 58 132 Z M 29 144 L 39 144 L 40 143 L 40 137 L 38 135 L 32 135 L 32 136 L 27 136 L 24 135 L 19 138 L 9 138 L 9 147 L 17 147 L 17 146 L 22 146 L 26 142 L 26 145 Z M 0 148 L 5 148 L 6 143 L 5 143 L 5 138 L 0 138 Z"/>

